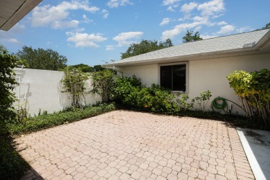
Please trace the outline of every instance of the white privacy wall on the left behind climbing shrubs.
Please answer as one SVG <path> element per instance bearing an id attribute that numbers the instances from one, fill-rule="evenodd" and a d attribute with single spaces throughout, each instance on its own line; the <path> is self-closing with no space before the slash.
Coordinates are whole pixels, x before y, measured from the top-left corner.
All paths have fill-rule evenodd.
<path id="1" fill-rule="evenodd" d="M 28 113 L 33 116 L 41 111 L 60 111 L 66 107 L 71 106 L 67 93 L 62 93 L 62 83 L 60 80 L 64 77 L 63 71 L 48 71 L 40 69 L 15 69 L 17 80 L 20 79 L 19 87 L 15 89 L 16 96 L 19 98 L 26 97 L 26 108 Z M 87 87 L 91 89 L 91 80 L 87 80 Z M 20 90 L 19 90 L 20 88 Z M 27 91 L 28 90 L 28 91 Z M 93 105 L 100 101 L 100 96 L 93 95 L 92 93 L 85 96 L 86 104 Z M 15 102 L 15 108 L 17 102 Z"/>

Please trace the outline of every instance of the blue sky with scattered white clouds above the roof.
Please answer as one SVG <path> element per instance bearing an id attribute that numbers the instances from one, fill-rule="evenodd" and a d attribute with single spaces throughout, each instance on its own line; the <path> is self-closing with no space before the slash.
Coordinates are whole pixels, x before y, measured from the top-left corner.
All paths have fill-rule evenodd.
<path id="1" fill-rule="evenodd" d="M 72 64 L 120 60 L 142 39 L 182 43 L 186 30 L 203 39 L 262 28 L 270 22 L 269 0 L 43 0 L 0 44 L 11 53 L 22 46 L 51 48 Z"/>

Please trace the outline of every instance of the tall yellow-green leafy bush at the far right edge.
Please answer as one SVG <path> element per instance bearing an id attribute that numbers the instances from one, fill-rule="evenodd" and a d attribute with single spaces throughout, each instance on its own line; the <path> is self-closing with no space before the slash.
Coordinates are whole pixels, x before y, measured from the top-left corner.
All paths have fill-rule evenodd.
<path id="1" fill-rule="evenodd" d="M 270 69 L 235 71 L 226 77 L 247 117 L 270 127 Z"/>

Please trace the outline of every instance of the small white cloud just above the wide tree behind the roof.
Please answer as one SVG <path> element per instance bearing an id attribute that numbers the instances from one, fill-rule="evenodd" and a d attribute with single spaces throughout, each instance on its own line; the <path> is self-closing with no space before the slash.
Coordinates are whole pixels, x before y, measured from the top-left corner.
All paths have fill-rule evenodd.
<path id="1" fill-rule="evenodd" d="M 139 39 L 143 35 L 143 32 L 127 32 L 120 33 L 113 39 L 118 42 L 118 46 L 128 46 L 129 44 L 134 43 L 132 39 Z"/>

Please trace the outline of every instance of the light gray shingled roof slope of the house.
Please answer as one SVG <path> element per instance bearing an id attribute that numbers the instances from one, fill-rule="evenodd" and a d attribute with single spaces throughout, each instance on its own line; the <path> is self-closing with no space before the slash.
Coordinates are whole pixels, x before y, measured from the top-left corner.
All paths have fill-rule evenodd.
<path id="1" fill-rule="evenodd" d="M 197 42 L 188 42 L 178 46 L 163 48 L 161 50 L 144 53 L 123 60 L 104 64 L 105 67 L 117 66 L 121 64 L 132 64 L 151 60 L 162 60 L 164 58 L 186 57 L 188 55 L 204 55 L 208 53 L 242 51 L 244 48 L 253 49 L 256 44 L 270 30 L 257 30 L 249 33 L 240 33 L 236 35 L 228 35 L 223 37 L 215 37 L 204 39 Z"/>

